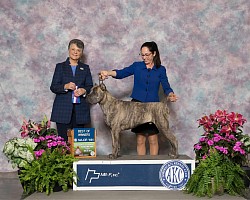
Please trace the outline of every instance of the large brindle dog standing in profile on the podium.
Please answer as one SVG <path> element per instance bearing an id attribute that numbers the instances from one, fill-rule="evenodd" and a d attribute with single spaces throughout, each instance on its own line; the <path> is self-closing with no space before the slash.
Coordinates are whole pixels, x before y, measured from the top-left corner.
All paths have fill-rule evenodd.
<path id="1" fill-rule="evenodd" d="M 140 103 L 123 101 L 113 97 L 101 83 L 95 85 L 87 95 L 87 100 L 91 104 L 99 103 L 103 113 L 105 123 L 111 129 L 112 154 L 110 159 L 116 159 L 120 150 L 120 132 L 136 127 L 137 125 L 153 122 L 160 133 L 168 139 L 171 144 L 169 156 L 177 158 L 178 142 L 169 130 L 169 109 L 166 103 Z"/>

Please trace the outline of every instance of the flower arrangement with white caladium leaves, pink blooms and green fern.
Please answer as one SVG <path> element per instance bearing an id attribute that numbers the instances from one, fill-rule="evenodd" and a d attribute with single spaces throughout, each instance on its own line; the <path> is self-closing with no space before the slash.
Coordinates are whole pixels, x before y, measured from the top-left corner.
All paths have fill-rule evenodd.
<path id="1" fill-rule="evenodd" d="M 66 141 L 51 128 L 45 116 L 40 123 L 24 120 L 22 138 L 5 143 L 4 154 L 19 168 L 19 179 L 25 194 L 35 191 L 50 194 L 56 187 L 68 191 L 74 182 L 74 156 Z"/>

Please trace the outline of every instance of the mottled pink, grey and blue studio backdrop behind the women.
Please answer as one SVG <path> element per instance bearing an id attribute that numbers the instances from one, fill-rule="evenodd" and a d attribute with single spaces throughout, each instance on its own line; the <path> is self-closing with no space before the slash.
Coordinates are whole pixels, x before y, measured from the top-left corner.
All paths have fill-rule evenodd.
<path id="1" fill-rule="evenodd" d="M 197 119 L 217 109 L 242 113 L 250 133 L 250 1 L 248 0 L 1 0 L 0 147 L 19 136 L 23 118 L 50 116 L 49 90 L 55 64 L 67 57 L 73 38 L 86 44 L 94 82 L 101 69 L 122 68 L 140 46 L 154 40 L 179 96 L 169 105 L 171 129 L 180 154 L 194 157 L 203 133 Z M 129 99 L 133 77 L 105 84 Z M 92 106 L 97 153 L 111 151 L 111 138 L 99 105 Z M 136 154 L 135 136 L 122 136 L 122 152 Z M 164 145 L 161 146 L 161 150 Z M 0 153 L 0 171 L 13 170 Z"/>

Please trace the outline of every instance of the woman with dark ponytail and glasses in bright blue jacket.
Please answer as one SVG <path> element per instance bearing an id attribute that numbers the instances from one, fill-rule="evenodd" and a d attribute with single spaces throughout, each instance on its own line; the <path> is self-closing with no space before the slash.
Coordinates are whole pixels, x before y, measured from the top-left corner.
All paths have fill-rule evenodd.
<path id="1" fill-rule="evenodd" d="M 171 102 L 177 101 L 168 82 L 166 68 L 161 65 L 160 53 L 155 42 L 145 42 L 141 46 L 141 62 L 134 62 L 129 67 L 121 70 L 101 71 L 102 80 L 112 76 L 116 79 L 123 79 L 134 75 L 134 87 L 131 94 L 132 101 L 137 102 L 159 102 L 160 84 Z M 132 129 L 137 138 L 137 154 L 146 154 L 146 140 L 148 138 L 150 155 L 158 155 L 158 129 L 155 124 L 148 122 Z"/>

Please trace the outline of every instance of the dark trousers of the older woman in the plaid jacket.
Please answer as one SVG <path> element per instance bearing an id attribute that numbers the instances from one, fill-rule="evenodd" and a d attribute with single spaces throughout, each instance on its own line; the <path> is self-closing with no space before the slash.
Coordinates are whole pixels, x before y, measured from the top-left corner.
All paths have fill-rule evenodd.
<path id="1" fill-rule="evenodd" d="M 67 132 L 69 129 L 84 128 L 84 126 L 85 124 L 76 123 L 75 105 L 73 106 L 72 116 L 69 124 L 56 123 L 58 136 L 64 138 L 65 141 L 68 141 Z"/>

